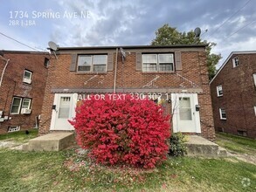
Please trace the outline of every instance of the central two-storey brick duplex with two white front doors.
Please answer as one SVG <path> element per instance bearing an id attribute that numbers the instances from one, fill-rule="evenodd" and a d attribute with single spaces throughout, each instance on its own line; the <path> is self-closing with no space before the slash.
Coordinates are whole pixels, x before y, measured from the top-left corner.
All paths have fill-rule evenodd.
<path id="1" fill-rule="evenodd" d="M 67 120 L 78 99 L 133 93 L 162 99 L 166 112 L 174 112 L 173 132 L 215 138 L 205 45 L 59 47 L 56 54 L 39 134 L 73 130 Z"/>

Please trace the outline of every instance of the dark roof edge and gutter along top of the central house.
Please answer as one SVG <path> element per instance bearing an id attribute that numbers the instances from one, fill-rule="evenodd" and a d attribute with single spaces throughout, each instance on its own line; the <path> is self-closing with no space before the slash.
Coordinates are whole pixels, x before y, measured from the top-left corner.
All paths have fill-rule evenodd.
<path id="1" fill-rule="evenodd" d="M 206 47 L 208 45 L 116 45 L 116 46 L 83 46 L 83 47 L 59 47 L 58 50 L 100 50 L 100 49 L 140 49 L 140 48 L 192 48 Z"/>

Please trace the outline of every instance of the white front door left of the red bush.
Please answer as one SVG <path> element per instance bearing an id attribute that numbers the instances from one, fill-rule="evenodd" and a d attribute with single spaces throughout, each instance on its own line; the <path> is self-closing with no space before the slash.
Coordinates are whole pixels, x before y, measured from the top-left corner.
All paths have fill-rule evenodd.
<path id="1" fill-rule="evenodd" d="M 51 130 L 73 130 L 68 122 L 75 116 L 77 94 L 55 94 Z"/>

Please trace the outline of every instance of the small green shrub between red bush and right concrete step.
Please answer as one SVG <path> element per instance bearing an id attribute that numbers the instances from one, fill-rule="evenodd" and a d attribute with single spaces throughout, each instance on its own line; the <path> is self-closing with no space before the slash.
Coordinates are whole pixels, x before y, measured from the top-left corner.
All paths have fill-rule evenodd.
<path id="1" fill-rule="evenodd" d="M 185 146 L 185 135 L 178 132 L 172 134 L 170 137 L 170 151 L 169 154 L 172 156 L 183 156 L 187 154 L 187 147 Z"/>

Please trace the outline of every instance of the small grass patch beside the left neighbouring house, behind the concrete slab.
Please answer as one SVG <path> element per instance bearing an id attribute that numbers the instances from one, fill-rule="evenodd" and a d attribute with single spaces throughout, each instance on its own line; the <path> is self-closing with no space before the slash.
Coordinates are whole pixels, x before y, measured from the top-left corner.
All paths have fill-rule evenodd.
<path id="1" fill-rule="evenodd" d="M 29 129 L 29 134 L 25 134 L 25 131 L 11 132 L 7 134 L 0 134 L 0 141 L 17 141 L 24 143 L 38 136 L 38 129 Z"/>

